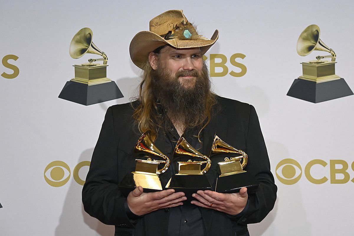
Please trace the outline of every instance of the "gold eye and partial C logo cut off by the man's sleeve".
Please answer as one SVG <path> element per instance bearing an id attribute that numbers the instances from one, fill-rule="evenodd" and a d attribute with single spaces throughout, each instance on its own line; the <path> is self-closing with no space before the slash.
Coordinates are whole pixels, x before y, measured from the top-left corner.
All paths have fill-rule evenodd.
<path id="1" fill-rule="evenodd" d="M 85 184 L 85 180 L 80 178 L 79 172 L 84 166 L 90 167 L 90 164 L 90 161 L 82 161 L 75 166 L 73 177 L 76 183 L 80 185 Z M 70 168 L 68 164 L 63 161 L 52 161 L 44 169 L 44 179 L 50 186 L 53 187 L 61 187 L 68 183 L 70 176 Z"/>

